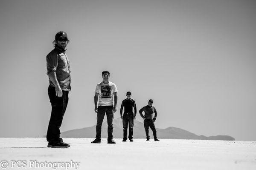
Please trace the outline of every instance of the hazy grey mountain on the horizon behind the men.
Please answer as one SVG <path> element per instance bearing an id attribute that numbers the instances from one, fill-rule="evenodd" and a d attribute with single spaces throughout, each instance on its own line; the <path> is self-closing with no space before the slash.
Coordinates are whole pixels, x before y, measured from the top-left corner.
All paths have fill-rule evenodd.
<path id="1" fill-rule="evenodd" d="M 122 120 L 117 118 L 113 120 L 114 130 L 113 136 L 114 138 L 123 138 L 123 128 L 122 128 Z M 128 128 L 129 133 L 129 128 Z M 149 135 L 151 138 L 153 137 L 152 130 L 149 128 Z M 96 125 L 92 127 L 85 127 L 82 129 L 69 130 L 61 133 L 61 137 L 63 138 L 95 138 L 96 135 Z M 102 124 L 102 138 L 108 137 L 108 124 L 104 122 Z M 146 138 L 144 124 L 140 121 L 134 121 L 134 138 Z M 201 140 L 224 140 L 224 141 L 234 141 L 235 138 L 228 135 L 217 135 L 217 136 L 209 136 L 206 137 L 204 135 L 195 135 L 189 131 L 177 128 L 177 127 L 168 127 L 166 129 L 157 128 L 157 137 L 165 138 L 165 139 L 201 139 Z"/>

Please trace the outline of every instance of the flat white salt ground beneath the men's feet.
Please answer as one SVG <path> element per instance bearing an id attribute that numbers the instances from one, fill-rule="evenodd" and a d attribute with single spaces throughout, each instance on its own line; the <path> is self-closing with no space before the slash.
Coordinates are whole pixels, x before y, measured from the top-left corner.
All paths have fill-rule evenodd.
<path id="1" fill-rule="evenodd" d="M 79 170 L 256 170 L 255 141 L 114 139 L 116 144 L 107 144 L 103 138 L 101 144 L 90 144 L 92 140 L 64 138 L 71 147 L 57 149 L 47 148 L 45 138 L 0 138 L 0 161 L 8 162 L 7 170 L 53 169 L 29 167 L 31 160 L 72 160 L 80 162 Z M 18 160 L 26 161 L 26 167 L 11 167 Z"/>

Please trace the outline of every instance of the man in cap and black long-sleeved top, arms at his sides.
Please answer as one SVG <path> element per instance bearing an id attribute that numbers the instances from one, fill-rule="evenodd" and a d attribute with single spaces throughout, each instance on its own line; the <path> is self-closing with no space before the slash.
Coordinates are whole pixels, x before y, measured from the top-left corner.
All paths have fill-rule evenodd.
<path id="1" fill-rule="evenodd" d="M 126 93 L 126 99 L 122 101 L 121 109 L 120 109 L 120 114 L 121 114 L 121 119 L 123 122 L 123 128 L 124 128 L 124 137 L 123 141 L 127 140 L 127 128 L 129 124 L 129 140 L 133 141 L 133 126 L 134 126 L 134 119 L 136 118 L 136 104 L 133 99 L 131 99 L 131 92 Z M 124 115 L 122 115 L 122 110 L 123 107 L 125 107 Z M 134 110 L 134 111 L 133 111 Z"/>

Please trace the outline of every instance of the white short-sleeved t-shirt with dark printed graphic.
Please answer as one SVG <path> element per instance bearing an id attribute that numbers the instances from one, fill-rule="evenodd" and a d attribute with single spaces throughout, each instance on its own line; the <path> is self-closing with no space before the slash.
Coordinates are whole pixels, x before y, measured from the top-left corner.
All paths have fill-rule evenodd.
<path id="1" fill-rule="evenodd" d="M 99 106 L 113 106 L 113 93 L 117 92 L 116 84 L 111 81 L 104 84 L 103 81 L 97 84 L 96 93 L 99 93 Z"/>

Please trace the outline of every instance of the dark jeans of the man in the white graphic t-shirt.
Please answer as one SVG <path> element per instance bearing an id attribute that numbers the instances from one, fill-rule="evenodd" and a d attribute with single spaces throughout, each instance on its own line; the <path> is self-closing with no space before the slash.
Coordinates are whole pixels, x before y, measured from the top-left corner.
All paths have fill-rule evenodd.
<path id="1" fill-rule="evenodd" d="M 113 106 L 99 106 L 97 113 L 97 124 L 96 124 L 96 138 L 101 139 L 101 127 L 105 116 L 107 115 L 108 122 L 108 141 L 113 139 Z"/>

